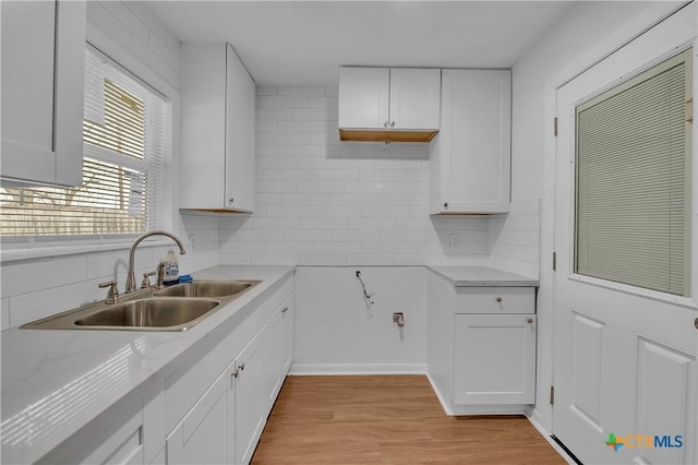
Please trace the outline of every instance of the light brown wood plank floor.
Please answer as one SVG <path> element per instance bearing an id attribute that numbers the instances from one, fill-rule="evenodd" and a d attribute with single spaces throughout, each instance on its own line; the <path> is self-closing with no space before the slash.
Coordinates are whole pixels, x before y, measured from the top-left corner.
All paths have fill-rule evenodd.
<path id="1" fill-rule="evenodd" d="M 288 377 L 252 464 L 565 464 L 524 417 L 448 417 L 423 375 Z"/>

